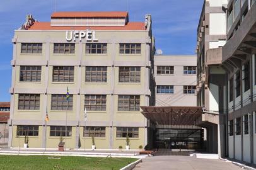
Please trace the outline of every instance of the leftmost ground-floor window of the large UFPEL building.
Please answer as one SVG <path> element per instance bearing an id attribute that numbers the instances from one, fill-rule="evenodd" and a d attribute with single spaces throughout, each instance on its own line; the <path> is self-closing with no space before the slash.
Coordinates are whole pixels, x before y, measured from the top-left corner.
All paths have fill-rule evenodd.
<path id="1" fill-rule="evenodd" d="M 17 126 L 17 136 L 38 136 L 38 126 Z"/>

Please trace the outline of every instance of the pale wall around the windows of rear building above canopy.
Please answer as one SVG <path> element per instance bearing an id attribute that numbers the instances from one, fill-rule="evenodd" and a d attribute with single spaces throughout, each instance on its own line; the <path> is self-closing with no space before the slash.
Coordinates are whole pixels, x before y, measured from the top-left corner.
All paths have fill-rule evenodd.
<path id="1" fill-rule="evenodd" d="M 173 66 L 171 75 L 158 75 L 158 66 Z M 195 86 L 196 74 L 183 74 L 183 66 L 196 66 L 195 55 L 154 55 L 154 76 L 158 85 L 173 86 L 173 94 L 156 91 L 156 106 L 197 106 L 196 94 L 184 94 L 183 86 Z"/>

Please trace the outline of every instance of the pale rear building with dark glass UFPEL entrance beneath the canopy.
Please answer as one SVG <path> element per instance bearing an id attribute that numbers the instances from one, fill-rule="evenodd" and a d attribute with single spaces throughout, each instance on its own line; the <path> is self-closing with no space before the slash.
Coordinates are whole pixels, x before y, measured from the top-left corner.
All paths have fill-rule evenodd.
<path id="1" fill-rule="evenodd" d="M 197 106 L 196 65 L 196 55 L 154 55 L 156 108 Z M 154 148 L 179 149 L 179 144 L 182 144 L 182 149 L 204 149 L 204 130 L 201 127 L 158 122 L 153 129 Z"/>

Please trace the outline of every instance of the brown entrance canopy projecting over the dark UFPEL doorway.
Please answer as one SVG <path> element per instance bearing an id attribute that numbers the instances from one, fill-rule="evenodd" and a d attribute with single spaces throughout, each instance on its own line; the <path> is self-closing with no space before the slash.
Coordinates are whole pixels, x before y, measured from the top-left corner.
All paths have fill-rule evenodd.
<path id="1" fill-rule="evenodd" d="M 194 125 L 202 115 L 196 106 L 141 106 L 143 115 L 159 125 Z"/>

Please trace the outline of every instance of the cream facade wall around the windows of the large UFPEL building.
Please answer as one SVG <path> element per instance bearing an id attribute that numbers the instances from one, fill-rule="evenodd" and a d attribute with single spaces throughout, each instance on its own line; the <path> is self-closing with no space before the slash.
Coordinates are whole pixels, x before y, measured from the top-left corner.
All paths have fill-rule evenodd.
<path id="1" fill-rule="evenodd" d="M 139 138 L 130 139 L 131 149 L 138 149 L 147 144 L 146 118 L 140 111 L 118 111 L 119 94 L 140 96 L 140 105 L 148 106 L 151 98 L 149 76 L 151 76 L 150 60 L 153 59 L 153 39 L 151 30 L 145 31 L 96 31 L 98 43 L 107 43 L 107 54 L 85 54 L 85 40 L 75 43 L 75 54 L 54 54 L 54 43 L 66 43 L 66 31 L 55 30 L 16 30 L 13 38 L 13 76 L 11 86 L 11 137 L 10 147 L 19 147 L 24 137 L 16 136 L 17 125 L 38 125 L 38 137 L 29 137 L 29 147 L 56 148 L 60 137 L 50 137 L 52 125 L 72 126 L 72 136 L 67 137 L 66 147 L 74 149 L 91 148 L 91 139 L 83 137 L 83 127 L 106 127 L 104 138 L 95 137 L 96 148 L 117 149 L 125 144 L 125 139 L 117 139 L 116 127 L 139 127 Z M 42 54 L 21 54 L 21 43 L 43 43 Z M 152 43 L 151 43 L 152 42 Z M 119 43 L 141 43 L 141 54 L 119 54 Z M 40 65 L 42 74 L 40 82 L 20 82 L 20 65 Z M 74 82 L 53 82 L 52 69 L 55 65 L 74 66 Z M 85 82 L 86 66 L 107 66 L 107 82 Z M 141 67 L 141 82 L 119 82 L 119 67 Z M 72 111 L 51 110 L 51 94 L 73 94 Z M 18 110 L 18 95 L 21 93 L 40 94 L 40 110 Z M 84 94 L 106 94 L 106 111 L 87 111 L 84 122 Z M 46 140 L 45 114 L 48 113 Z M 79 127 L 79 128 L 78 128 Z M 85 143 L 84 143 L 85 142 Z"/>

